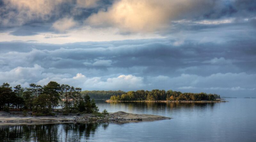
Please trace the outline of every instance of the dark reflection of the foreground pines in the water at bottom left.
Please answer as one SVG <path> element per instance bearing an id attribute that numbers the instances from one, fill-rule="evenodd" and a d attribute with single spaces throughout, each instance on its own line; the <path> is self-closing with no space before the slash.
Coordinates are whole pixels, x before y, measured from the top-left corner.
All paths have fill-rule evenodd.
<path id="1" fill-rule="evenodd" d="M 99 127 L 107 130 L 108 123 L 0 126 L 0 141 L 82 141 L 94 136 Z"/>

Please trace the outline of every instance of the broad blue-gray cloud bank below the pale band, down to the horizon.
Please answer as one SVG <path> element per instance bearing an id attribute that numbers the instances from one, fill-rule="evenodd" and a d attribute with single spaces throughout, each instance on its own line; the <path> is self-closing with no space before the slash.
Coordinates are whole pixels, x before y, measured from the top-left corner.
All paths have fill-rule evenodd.
<path id="1" fill-rule="evenodd" d="M 0 42 L 0 78 L 12 86 L 53 80 L 83 90 L 173 89 L 255 96 L 256 40 L 144 39 L 42 44 Z"/>

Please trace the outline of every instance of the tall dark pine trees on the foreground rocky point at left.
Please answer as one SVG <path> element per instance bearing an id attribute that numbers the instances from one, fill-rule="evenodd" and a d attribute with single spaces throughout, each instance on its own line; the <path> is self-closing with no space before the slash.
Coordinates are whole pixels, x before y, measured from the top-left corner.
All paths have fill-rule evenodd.
<path id="1" fill-rule="evenodd" d="M 65 113 L 99 111 L 89 95 L 82 97 L 81 88 L 60 85 L 54 81 L 44 86 L 32 83 L 28 88 L 17 85 L 12 89 L 8 83 L 0 86 L 0 110 L 31 110 L 40 116 L 51 114 L 59 106 Z"/>

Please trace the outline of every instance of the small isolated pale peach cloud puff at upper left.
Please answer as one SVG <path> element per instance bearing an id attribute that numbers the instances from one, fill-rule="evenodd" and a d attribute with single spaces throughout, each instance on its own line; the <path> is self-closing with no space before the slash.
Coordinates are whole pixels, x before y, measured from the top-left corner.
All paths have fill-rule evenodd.
<path id="1" fill-rule="evenodd" d="M 52 27 L 59 32 L 65 32 L 66 30 L 76 26 L 76 22 L 72 18 L 63 18 L 52 24 Z"/>

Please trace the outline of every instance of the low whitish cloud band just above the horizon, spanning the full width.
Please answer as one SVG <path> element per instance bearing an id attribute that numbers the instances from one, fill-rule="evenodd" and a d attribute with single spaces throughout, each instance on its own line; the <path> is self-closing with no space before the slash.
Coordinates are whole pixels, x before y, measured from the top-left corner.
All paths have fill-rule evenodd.
<path id="1" fill-rule="evenodd" d="M 86 77 L 82 73 L 70 74 L 46 73 L 46 69 L 35 64 L 33 67 L 16 67 L 10 71 L 0 71 L 1 82 L 11 86 L 21 84 L 28 87 L 30 83 L 46 85 L 49 81 L 81 87 L 83 90 L 137 90 L 137 89 L 173 89 L 177 91 L 193 91 L 207 93 L 223 93 L 232 91 L 255 91 L 256 74 L 217 73 L 209 76 L 181 74 L 178 77 L 135 75 L 112 75 L 112 77 Z M 168 87 L 168 88 L 167 88 Z M 230 92 L 229 92 L 230 93 Z"/>

